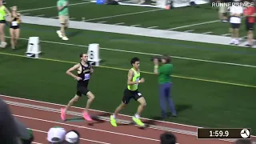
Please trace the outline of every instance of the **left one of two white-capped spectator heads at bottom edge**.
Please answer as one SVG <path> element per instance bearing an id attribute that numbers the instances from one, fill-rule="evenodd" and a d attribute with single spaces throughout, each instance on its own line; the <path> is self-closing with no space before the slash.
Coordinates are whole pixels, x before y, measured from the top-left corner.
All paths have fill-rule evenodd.
<path id="1" fill-rule="evenodd" d="M 47 133 L 49 144 L 62 144 L 64 142 L 66 130 L 62 127 L 52 127 Z"/>

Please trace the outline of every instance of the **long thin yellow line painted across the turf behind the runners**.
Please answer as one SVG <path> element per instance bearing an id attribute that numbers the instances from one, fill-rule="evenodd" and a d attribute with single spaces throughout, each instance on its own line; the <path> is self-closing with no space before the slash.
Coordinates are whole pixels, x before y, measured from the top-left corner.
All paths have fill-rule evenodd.
<path id="1" fill-rule="evenodd" d="M 2 53 L 2 52 L 0 52 L 0 54 L 26 58 L 25 55 L 20 55 L 20 54 L 9 54 L 9 53 Z M 42 60 L 46 60 L 46 61 L 51 61 L 51 62 L 65 62 L 65 63 L 73 63 L 73 64 L 78 63 L 78 62 L 62 61 L 62 60 L 52 59 L 52 58 L 38 58 L 38 59 L 42 59 Z M 127 69 L 122 69 L 122 68 L 118 68 L 118 67 L 111 67 L 111 66 L 98 66 L 98 67 L 102 67 L 102 68 L 106 68 L 106 69 L 112 69 L 112 70 L 127 70 Z M 145 74 L 153 74 L 153 73 L 147 72 L 147 71 L 141 71 L 141 72 L 145 73 Z M 184 79 L 203 81 L 203 82 L 215 82 L 215 83 L 222 83 L 222 84 L 226 84 L 226 85 L 244 86 L 244 87 L 256 88 L 256 86 L 245 85 L 245 84 L 234 83 L 234 82 L 222 82 L 222 81 L 217 81 L 217 80 L 202 79 L 202 78 L 191 78 L 191 77 L 185 77 L 185 76 L 179 76 L 179 75 L 171 75 L 171 76 L 174 77 L 174 78 L 184 78 Z"/>

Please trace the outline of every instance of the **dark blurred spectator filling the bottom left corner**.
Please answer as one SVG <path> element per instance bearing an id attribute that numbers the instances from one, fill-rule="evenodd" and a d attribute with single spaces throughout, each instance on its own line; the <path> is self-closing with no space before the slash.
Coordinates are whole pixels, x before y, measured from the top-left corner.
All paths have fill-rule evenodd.
<path id="1" fill-rule="evenodd" d="M 0 98 L 0 142 L 22 144 L 18 127 L 9 106 Z"/>

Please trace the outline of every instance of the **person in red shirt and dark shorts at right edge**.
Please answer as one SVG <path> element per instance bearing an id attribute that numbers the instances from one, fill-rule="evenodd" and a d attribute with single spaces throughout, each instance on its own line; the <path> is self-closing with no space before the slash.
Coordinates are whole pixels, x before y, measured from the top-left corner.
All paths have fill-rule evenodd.
<path id="1" fill-rule="evenodd" d="M 252 2 L 251 0 L 246 0 L 245 3 Z M 247 6 L 247 5 L 246 5 Z M 247 30 L 247 44 L 246 46 L 252 47 L 254 40 L 254 22 L 256 11 L 254 6 L 246 7 L 243 11 L 243 15 L 246 17 L 246 30 Z"/>

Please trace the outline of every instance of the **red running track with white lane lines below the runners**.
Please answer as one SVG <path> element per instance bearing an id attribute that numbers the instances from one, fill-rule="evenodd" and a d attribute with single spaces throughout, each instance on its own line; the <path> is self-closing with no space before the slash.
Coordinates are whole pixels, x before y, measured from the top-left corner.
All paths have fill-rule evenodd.
<path id="1" fill-rule="evenodd" d="M 51 104 L 46 102 L 38 102 L 22 98 L 1 97 L 6 101 L 21 102 L 35 106 L 46 106 L 49 108 L 60 109 L 62 106 L 58 104 Z M 138 129 L 137 126 L 122 125 L 113 127 L 110 122 L 94 121 L 94 122 L 62 122 L 60 114 L 46 110 L 36 110 L 33 108 L 26 108 L 22 106 L 12 106 L 10 109 L 15 117 L 24 122 L 35 131 L 35 142 L 46 143 L 46 133 L 53 126 L 62 126 L 66 130 L 78 130 L 81 134 L 81 143 L 102 143 L 102 144 L 130 144 L 130 143 L 147 143 L 158 144 L 159 135 L 165 132 L 164 130 L 156 130 L 146 128 L 145 130 Z M 72 108 L 71 111 L 81 112 L 81 108 Z M 106 115 L 107 113 L 90 110 L 90 114 Z M 67 115 L 69 116 L 69 115 Z M 74 117 L 74 115 L 72 116 Z M 118 118 L 123 120 L 130 120 L 130 116 L 119 115 Z M 175 124 L 171 122 L 161 122 L 149 119 L 143 119 L 144 122 L 154 122 L 154 125 L 166 126 L 179 130 L 196 131 L 195 126 L 186 126 L 182 124 Z M 222 140 L 198 140 L 196 136 L 189 134 L 180 134 L 173 132 L 178 138 L 179 144 L 231 144 L 233 142 L 226 142 Z"/>

